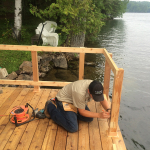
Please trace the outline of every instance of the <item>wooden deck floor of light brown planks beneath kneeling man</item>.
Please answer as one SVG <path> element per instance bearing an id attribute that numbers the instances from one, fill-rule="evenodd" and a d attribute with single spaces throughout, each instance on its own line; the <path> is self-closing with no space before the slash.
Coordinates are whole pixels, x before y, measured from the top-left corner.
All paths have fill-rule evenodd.
<path id="1" fill-rule="evenodd" d="M 14 106 L 25 105 L 42 109 L 55 97 L 57 89 L 3 88 L 0 94 L 0 115 L 7 115 Z M 100 103 L 90 102 L 91 111 L 101 111 Z M 29 114 L 32 110 L 29 110 Z M 126 150 L 118 127 L 118 137 L 108 137 L 108 122 L 94 118 L 93 122 L 79 121 L 79 130 L 69 133 L 51 119 L 35 119 L 15 127 L 9 116 L 0 116 L 0 150 Z"/>

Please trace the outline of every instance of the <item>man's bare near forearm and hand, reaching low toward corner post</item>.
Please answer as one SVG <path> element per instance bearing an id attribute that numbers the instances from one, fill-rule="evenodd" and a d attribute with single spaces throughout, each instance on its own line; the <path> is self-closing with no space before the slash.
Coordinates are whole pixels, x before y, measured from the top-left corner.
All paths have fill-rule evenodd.
<path id="1" fill-rule="evenodd" d="M 79 114 L 84 116 L 84 117 L 90 117 L 90 118 L 103 118 L 103 119 L 107 119 L 110 117 L 110 113 L 109 112 L 101 112 L 101 113 L 95 113 L 95 112 L 91 112 L 85 109 L 80 109 L 78 108 Z"/>

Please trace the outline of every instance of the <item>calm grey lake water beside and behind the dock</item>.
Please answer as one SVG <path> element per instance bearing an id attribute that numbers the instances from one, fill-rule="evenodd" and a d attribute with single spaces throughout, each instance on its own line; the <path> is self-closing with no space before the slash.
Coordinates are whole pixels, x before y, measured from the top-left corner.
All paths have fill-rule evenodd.
<path id="1" fill-rule="evenodd" d="M 123 18 L 107 21 L 98 40 L 86 47 L 106 48 L 124 69 L 119 126 L 128 150 L 150 150 L 150 13 L 125 13 Z M 85 79 L 103 82 L 105 58 L 87 54 Z M 53 69 L 44 80 L 75 81 L 78 71 Z M 113 74 L 111 74 L 110 97 Z"/>

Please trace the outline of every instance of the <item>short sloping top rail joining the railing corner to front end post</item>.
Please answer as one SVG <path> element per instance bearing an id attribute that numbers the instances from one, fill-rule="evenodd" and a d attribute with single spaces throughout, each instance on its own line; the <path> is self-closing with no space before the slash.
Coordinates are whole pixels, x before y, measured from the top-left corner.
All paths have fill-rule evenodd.
<path id="1" fill-rule="evenodd" d="M 104 52 L 103 52 L 110 68 L 112 69 L 114 75 L 116 75 L 117 71 L 118 71 L 118 67 L 117 65 L 115 64 L 115 62 L 112 60 L 111 56 L 109 55 L 109 53 L 107 52 L 106 49 L 104 49 Z"/>

